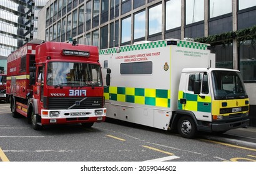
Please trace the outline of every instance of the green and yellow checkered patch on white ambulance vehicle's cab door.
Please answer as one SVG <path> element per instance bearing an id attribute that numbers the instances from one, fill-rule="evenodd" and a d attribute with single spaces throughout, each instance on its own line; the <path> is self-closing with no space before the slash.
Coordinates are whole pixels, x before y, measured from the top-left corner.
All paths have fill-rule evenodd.
<path id="1" fill-rule="evenodd" d="M 180 99 L 187 99 L 187 104 L 180 104 Z M 208 106 L 204 106 L 204 103 L 208 103 Z M 184 93 L 179 91 L 178 97 L 178 109 L 188 111 L 199 111 L 199 112 L 211 112 L 212 98 L 205 96 L 204 99 L 200 98 L 197 94 Z"/>

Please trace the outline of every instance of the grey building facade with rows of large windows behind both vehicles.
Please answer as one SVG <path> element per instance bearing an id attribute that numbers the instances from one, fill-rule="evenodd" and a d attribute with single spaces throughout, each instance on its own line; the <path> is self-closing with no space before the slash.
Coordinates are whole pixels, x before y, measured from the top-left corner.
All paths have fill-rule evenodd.
<path id="1" fill-rule="evenodd" d="M 256 126 L 256 1 L 49 0 L 38 39 L 96 45 L 194 38 L 212 45 L 216 66 L 242 72 Z"/>

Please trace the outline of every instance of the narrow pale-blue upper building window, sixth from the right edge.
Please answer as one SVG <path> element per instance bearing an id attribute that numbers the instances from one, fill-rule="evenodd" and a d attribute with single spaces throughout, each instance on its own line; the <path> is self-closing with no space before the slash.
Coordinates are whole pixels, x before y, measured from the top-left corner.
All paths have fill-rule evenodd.
<path id="1" fill-rule="evenodd" d="M 145 37 L 145 11 L 134 15 L 134 39 Z"/>

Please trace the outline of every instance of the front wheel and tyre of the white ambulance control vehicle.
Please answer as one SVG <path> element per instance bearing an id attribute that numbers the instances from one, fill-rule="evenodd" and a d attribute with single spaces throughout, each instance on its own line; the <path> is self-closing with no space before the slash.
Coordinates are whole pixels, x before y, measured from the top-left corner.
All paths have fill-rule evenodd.
<path id="1" fill-rule="evenodd" d="M 197 134 L 197 127 L 192 117 L 182 116 L 178 121 L 179 134 L 187 139 L 192 139 Z"/>

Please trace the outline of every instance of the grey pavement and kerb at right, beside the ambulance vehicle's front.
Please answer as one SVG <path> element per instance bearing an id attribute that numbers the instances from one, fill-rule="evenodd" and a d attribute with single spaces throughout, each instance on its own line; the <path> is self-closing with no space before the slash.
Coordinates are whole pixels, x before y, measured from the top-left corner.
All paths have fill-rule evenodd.
<path id="1" fill-rule="evenodd" d="M 256 150 L 256 127 L 232 129 L 219 135 L 209 134 L 207 139 L 250 147 Z"/>

